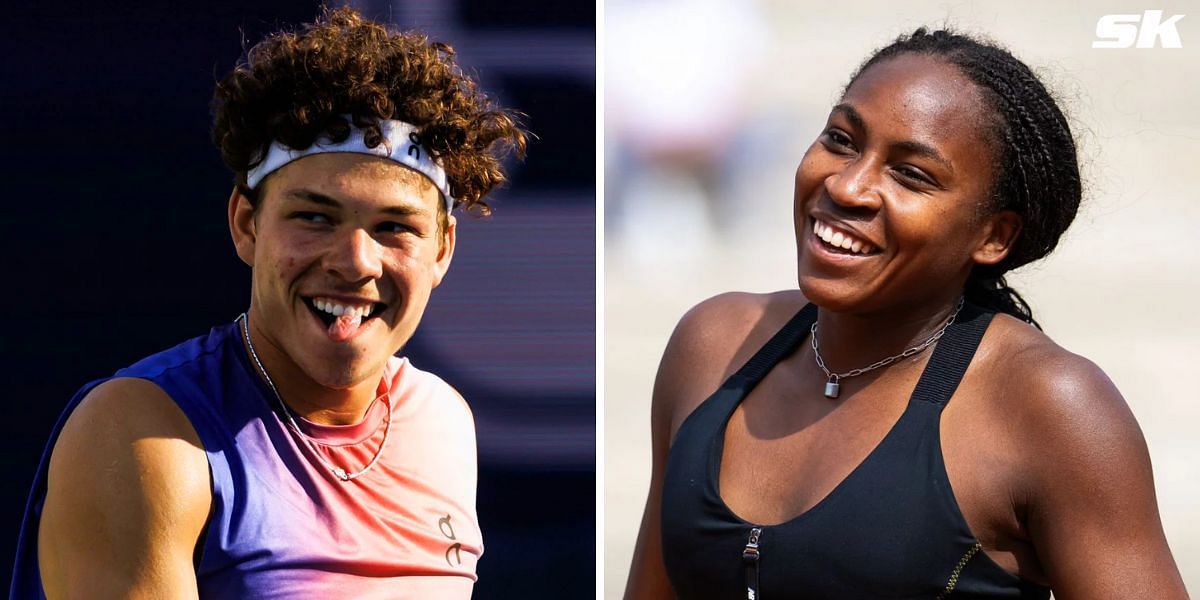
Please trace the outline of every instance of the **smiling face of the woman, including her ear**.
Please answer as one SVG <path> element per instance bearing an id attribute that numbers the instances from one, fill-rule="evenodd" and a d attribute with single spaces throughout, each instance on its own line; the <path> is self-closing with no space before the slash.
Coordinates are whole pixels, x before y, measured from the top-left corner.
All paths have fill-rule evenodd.
<path id="1" fill-rule="evenodd" d="M 796 173 L 798 280 L 833 311 L 956 296 L 976 263 L 1019 230 L 991 212 L 991 108 L 958 67 L 901 54 L 872 65 L 833 108 Z"/>

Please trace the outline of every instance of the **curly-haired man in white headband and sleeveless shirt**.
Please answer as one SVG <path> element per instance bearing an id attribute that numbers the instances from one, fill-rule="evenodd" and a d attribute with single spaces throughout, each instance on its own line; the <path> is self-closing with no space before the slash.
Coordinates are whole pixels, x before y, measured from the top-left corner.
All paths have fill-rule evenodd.
<path id="1" fill-rule="evenodd" d="M 252 48 L 214 115 L 250 307 L 72 398 L 12 596 L 469 598 L 470 410 L 395 354 L 524 133 L 349 8 Z"/>

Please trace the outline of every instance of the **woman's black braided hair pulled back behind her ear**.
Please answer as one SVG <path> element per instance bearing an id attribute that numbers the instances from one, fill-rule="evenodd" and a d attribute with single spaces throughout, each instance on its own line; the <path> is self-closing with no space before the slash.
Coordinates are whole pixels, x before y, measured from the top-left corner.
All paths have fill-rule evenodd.
<path id="1" fill-rule="evenodd" d="M 965 295 L 976 305 L 1004 312 L 1034 326 L 1030 305 L 1004 282 L 1004 274 L 1045 257 L 1075 218 L 1082 197 L 1075 140 L 1067 118 L 1033 71 L 1007 49 L 954 31 L 920 28 L 875 52 L 850 85 L 872 65 L 901 54 L 941 58 L 958 67 L 992 108 L 994 173 L 986 212 L 1012 210 L 1021 230 L 1007 257 L 974 265 Z"/>

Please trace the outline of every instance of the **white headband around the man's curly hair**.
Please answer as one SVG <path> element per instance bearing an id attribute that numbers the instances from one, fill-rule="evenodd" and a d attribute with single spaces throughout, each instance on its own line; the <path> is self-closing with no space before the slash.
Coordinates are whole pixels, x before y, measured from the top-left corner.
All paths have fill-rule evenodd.
<path id="1" fill-rule="evenodd" d="M 344 116 L 347 121 L 350 121 L 349 115 Z M 253 190 L 258 187 L 258 184 L 263 182 L 266 175 L 275 173 L 292 161 L 304 158 L 308 155 L 324 152 L 368 154 L 392 160 L 428 178 L 437 186 L 438 191 L 442 192 L 442 198 L 446 203 L 446 214 L 449 214 L 454 209 L 454 197 L 450 196 L 450 182 L 446 179 L 446 172 L 430 156 L 430 151 L 421 145 L 420 138 L 416 134 L 416 127 L 404 121 L 380 120 L 379 133 L 383 134 L 383 142 L 374 148 L 368 148 L 362 140 L 362 130 L 355 127 L 353 121 L 350 121 L 350 134 L 343 142 L 317 142 L 304 150 L 293 150 L 278 140 L 271 142 L 271 146 L 266 150 L 266 157 L 263 158 L 263 162 L 246 172 L 246 185 Z"/>

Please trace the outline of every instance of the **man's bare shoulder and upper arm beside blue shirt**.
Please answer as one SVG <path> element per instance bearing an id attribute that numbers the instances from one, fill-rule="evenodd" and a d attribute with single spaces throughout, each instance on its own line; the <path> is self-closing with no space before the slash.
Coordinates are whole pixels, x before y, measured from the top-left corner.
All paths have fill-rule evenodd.
<path id="1" fill-rule="evenodd" d="M 38 533 L 47 592 L 108 598 L 180 577 L 194 586 L 191 557 L 210 504 L 208 458 L 175 402 L 143 379 L 98 385 L 50 456 Z"/>

